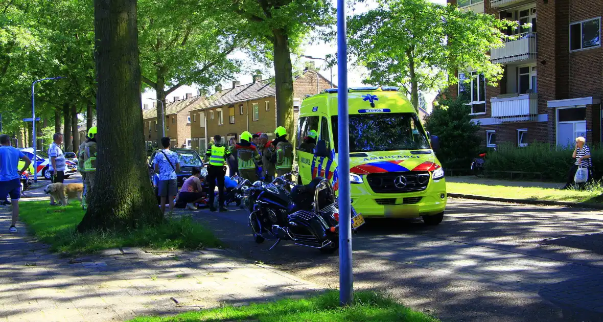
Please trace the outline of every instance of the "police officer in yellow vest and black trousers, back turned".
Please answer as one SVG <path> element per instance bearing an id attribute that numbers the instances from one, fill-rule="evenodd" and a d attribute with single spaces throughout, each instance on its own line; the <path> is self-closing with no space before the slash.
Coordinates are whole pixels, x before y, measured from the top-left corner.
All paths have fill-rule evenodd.
<path id="1" fill-rule="evenodd" d="M 216 182 L 218 183 L 218 201 L 220 205 L 220 211 L 228 211 L 224 206 L 224 161 L 230 156 L 230 152 L 220 144 L 222 137 L 216 134 L 213 136 L 213 145 L 210 145 L 211 150 L 205 153 L 205 162 L 209 162 L 207 165 L 207 185 L 209 185 L 209 210 L 216 211 L 213 207 L 213 200 L 215 199 L 215 188 Z"/>

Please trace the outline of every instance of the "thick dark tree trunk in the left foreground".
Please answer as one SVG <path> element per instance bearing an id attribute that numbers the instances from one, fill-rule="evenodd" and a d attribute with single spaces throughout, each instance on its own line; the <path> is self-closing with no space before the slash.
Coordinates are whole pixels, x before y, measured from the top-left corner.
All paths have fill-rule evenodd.
<path id="1" fill-rule="evenodd" d="M 98 92 L 96 182 L 77 230 L 126 229 L 159 223 L 140 135 L 140 67 L 136 0 L 95 0 Z"/>

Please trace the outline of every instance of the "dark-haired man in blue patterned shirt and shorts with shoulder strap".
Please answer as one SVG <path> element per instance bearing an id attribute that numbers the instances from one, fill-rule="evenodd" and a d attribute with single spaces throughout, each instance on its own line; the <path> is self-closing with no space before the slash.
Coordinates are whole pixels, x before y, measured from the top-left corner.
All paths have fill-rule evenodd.
<path id="1" fill-rule="evenodd" d="M 169 137 L 161 138 L 163 150 L 155 154 L 153 163 L 155 172 L 159 174 L 157 182 L 157 194 L 160 197 L 161 211 L 165 213 L 165 201 L 168 199 L 169 211 L 174 210 L 174 197 L 178 194 L 178 176 L 176 172 L 180 171 L 180 159 L 178 154 L 169 150 Z"/>

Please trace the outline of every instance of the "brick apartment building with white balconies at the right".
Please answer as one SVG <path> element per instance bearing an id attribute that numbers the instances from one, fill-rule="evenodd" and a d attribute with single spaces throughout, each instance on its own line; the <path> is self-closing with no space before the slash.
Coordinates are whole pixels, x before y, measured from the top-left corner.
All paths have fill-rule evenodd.
<path id="1" fill-rule="evenodd" d="M 499 84 L 476 75 L 450 87 L 469 99 L 481 122 L 487 147 L 502 142 L 572 144 L 584 136 L 602 142 L 603 1 L 587 0 L 448 0 L 461 10 L 494 14 L 526 28 L 505 30 L 515 36 L 492 49 L 492 62 L 504 66 Z M 528 25 L 529 24 L 529 25 Z M 459 71 L 459 79 L 472 71 Z"/>

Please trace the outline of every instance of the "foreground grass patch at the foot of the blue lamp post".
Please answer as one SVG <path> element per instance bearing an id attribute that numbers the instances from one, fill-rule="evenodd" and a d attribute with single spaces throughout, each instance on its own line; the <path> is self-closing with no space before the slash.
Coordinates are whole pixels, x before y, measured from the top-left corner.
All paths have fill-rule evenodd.
<path id="1" fill-rule="evenodd" d="M 302 321 L 399 321 L 436 322 L 434 317 L 412 311 L 392 298 L 374 292 L 356 292 L 355 304 L 339 307 L 339 292 L 330 291 L 317 297 L 302 300 L 280 300 L 249 306 L 191 311 L 175 317 L 137 317 L 129 322 L 185 322 L 185 321 L 238 321 L 302 322 Z"/>

